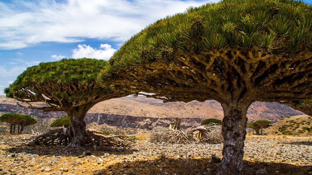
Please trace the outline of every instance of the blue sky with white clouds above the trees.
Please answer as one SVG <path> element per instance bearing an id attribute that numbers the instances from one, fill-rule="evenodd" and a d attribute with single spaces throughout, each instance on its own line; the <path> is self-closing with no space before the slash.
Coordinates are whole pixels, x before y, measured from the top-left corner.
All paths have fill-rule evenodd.
<path id="1" fill-rule="evenodd" d="M 107 60 L 148 24 L 211 1 L 0 0 L 0 95 L 29 66 L 61 58 Z"/>

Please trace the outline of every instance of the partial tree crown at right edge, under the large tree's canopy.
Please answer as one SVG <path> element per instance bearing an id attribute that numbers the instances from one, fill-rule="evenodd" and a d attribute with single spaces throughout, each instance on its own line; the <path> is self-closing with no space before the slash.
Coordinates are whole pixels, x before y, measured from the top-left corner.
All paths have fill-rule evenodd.
<path id="1" fill-rule="evenodd" d="M 289 100 L 280 103 L 312 116 L 312 100 Z"/>

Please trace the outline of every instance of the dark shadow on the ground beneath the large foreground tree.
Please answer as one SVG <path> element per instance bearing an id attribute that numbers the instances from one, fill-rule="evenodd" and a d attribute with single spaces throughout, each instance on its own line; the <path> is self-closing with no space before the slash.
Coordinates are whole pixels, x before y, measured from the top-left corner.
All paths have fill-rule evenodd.
<path id="1" fill-rule="evenodd" d="M 255 170 L 264 169 L 267 175 L 311 175 L 312 166 L 296 166 L 286 163 L 250 162 L 244 164 Z M 209 163 L 209 159 L 166 158 L 164 155 L 155 160 L 117 163 L 95 174 L 127 174 L 127 175 L 212 175 L 217 166 Z M 255 173 L 243 173 L 251 175 Z"/>

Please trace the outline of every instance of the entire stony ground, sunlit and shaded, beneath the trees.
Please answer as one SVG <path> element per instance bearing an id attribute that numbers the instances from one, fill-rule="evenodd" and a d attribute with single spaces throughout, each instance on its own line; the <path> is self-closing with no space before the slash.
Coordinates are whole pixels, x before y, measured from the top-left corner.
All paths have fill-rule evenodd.
<path id="1" fill-rule="evenodd" d="M 222 158 L 222 144 L 152 144 L 141 137 L 127 148 L 19 147 L 27 136 L 0 135 L 0 174 L 211 174 L 211 155 Z M 308 139 L 248 136 L 244 163 L 267 174 L 312 174 L 311 150 Z"/>

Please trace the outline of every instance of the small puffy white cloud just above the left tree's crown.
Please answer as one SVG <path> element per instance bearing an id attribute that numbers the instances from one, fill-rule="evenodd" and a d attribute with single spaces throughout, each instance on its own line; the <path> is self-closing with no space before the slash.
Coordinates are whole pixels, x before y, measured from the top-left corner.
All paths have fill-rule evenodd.
<path id="1" fill-rule="evenodd" d="M 78 49 L 72 50 L 72 58 L 96 58 L 108 60 L 116 50 L 109 44 L 101 44 L 100 48 L 93 48 L 90 45 L 78 45 Z"/>

